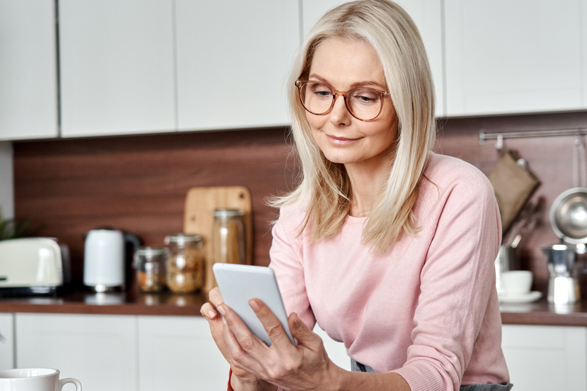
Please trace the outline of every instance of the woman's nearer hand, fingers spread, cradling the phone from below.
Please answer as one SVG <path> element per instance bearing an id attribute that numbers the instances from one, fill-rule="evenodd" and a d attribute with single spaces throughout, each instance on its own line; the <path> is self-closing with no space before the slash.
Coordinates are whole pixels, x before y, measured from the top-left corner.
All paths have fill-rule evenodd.
<path id="1" fill-rule="evenodd" d="M 218 306 L 225 319 L 224 339 L 236 366 L 288 391 L 336 389 L 342 368 L 328 358 L 322 339 L 295 312 L 288 318 L 289 330 L 298 345 L 289 341 L 279 319 L 261 301 L 249 301 L 264 325 L 272 345 L 267 346 L 226 304 Z"/>

